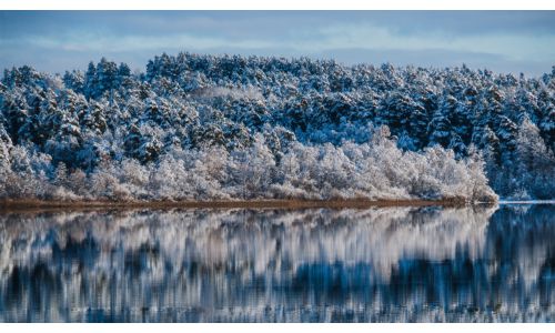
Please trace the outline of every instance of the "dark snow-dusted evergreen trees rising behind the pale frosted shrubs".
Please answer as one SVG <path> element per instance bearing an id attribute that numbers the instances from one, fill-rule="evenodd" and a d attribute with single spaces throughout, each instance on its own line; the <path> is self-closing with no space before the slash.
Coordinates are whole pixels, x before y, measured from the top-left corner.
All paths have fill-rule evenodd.
<path id="1" fill-rule="evenodd" d="M 465 65 L 164 53 L 144 74 L 104 58 L 63 77 L 4 70 L 0 104 L 2 147 L 47 153 L 70 172 L 91 173 L 102 159 L 157 162 L 174 147 L 233 152 L 258 133 L 278 157 L 283 133 L 340 145 L 369 142 L 369 125 L 387 125 L 407 151 L 438 144 L 463 159 L 474 145 L 502 196 L 555 194 L 555 70 L 526 79 Z"/>

